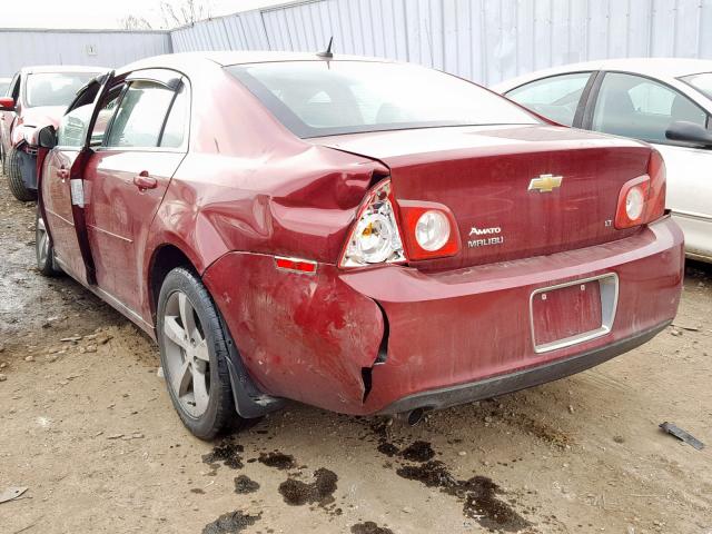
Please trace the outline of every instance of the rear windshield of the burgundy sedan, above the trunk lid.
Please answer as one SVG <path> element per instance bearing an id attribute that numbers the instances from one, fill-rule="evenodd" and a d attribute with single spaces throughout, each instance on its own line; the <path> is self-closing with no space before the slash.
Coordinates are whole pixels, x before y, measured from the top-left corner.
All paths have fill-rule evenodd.
<path id="1" fill-rule="evenodd" d="M 236 65 L 227 70 L 301 138 L 538 123 L 531 113 L 474 83 L 411 65 L 286 61 Z"/>

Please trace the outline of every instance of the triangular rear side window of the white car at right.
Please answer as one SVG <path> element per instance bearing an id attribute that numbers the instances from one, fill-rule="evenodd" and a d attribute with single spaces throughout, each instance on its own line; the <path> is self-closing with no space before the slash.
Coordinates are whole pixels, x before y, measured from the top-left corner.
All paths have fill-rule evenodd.
<path id="1" fill-rule="evenodd" d="M 517 87 L 506 97 L 560 125 L 572 126 L 590 78 L 591 72 L 552 76 Z"/>

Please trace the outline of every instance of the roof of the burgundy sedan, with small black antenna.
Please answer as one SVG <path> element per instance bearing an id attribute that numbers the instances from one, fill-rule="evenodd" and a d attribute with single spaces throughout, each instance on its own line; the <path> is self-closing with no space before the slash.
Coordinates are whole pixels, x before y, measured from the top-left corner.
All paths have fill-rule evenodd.
<path id="1" fill-rule="evenodd" d="M 268 63 L 281 61 L 326 61 L 316 52 L 271 52 L 271 51 L 201 51 L 180 52 L 154 56 L 140 59 L 117 69 L 117 75 L 130 72 L 138 69 L 168 68 L 189 73 L 194 69 L 199 69 L 208 65 L 227 67 L 230 65 Z M 383 58 L 369 58 L 364 56 L 349 56 L 335 53 L 332 61 L 395 61 Z"/>

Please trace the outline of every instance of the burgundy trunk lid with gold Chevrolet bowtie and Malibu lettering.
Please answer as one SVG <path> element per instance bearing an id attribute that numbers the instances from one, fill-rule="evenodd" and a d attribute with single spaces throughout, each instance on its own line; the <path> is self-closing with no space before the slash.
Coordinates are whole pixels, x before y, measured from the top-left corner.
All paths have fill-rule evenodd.
<path id="1" fill-rule="evenodd" d="M 621 187 L 647 171 L 650 148 L 637 141 L 562 127 L 488 126 L 312 142 L 382 161 L 398 200 L 441 202 L 453 211 L 459 254 L 418 261 L 418 268 L 541 256 L 639 231 L 613 226 Z"/>

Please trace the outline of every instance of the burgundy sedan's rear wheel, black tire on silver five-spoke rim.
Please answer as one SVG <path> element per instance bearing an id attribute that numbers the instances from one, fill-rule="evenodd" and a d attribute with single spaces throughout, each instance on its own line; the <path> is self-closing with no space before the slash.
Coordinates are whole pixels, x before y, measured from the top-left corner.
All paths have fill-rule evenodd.
<path id="1" fill-rule="evenodd" d="M 195 312 L 195 315 L 191 315 L 191 317 L 194 322 L 197 318 L 195 323 L 196 337 L 202 336 L 205 342 L 204 346 L 207 347 L 207 354 L 209 356 L 207 360 L 190 356 L 185 347 L 179 346 L 165 334 L 167 320 L 176 322 L 179 327 L 182 324 L 180 317 L 175 315 L 174 308 L 176 299 L 180 301 L 180 298 L 184 298 L 181 294 L 187 297 L 188 304 L 192 307 L 192 312 Z M 180 316 L 182 316 L 182 313 Z M 156 326 L 156 338 L 158 339 L 160 348 L 160 363 L 164 369 L 166 387 L 168 388 L 170 399 L 182 424 L 200 439 L 212 439 L 216 435 L 225 431 L 240 429 L 246 426 L 246 419 L 239 417 L 235 409 L 235 400 L 230 385 L 227 366 L 229 334 L 222 329 L 217 308 L 207 289 L 200 279 L 187 268 L 175 268 L 166 276 L 158 297 Z M 185 332 L 189 329 L 190 328 L 185 328 Z M 192 336 L 190 337 L 190 342 L 192 342 Z M 188 337 L 185 337 L 185 343 L 189 344 Z M 192 347 L 195 348 L 195 344 Z M 180 369 L 175 372 L 171 369 L 177 368 L 177 358 L 182 359 L 180 359 L 178 364 Z M 205 368 L 204 362 L 208 363 L 207 369 Z M 190 365 L 192 365 L 196 366 L 195 368 L 197 369 L 200 367 L 198 364 L 202 364 L 202 373 L 200 375 L 192 373 L 192 378 L 189 377 L 191 382 L 190 387 L 194 389 L 194 403 L 190 403 L 186 399 L 189 398 L 190 392 L 186 392 L 182 395 L 182 397 L 186 398 L 181 398 L 180 392 L 177 390 L 176 387 L 180 388 L 184 386 L 177 386 L 176 378 L 179 376 L 188 376 L 188 370 L 181 375 L 181 370 L 185 368 L 184 366 L 192 369 L 194 367 L 190 367 Z M 196 376 L 198 376 L 198 378 L 196 378 Z M 196 415 L 191 414 L 189 409 L 197 411 L 198 408 L 195 384 L 196 379 L 199 380 L 200 376 L 205 378 L 202 390 L 207 390 L 208 400 L 207 408 Z M 184 382 L 180 382 L 180 384 Z"/>

